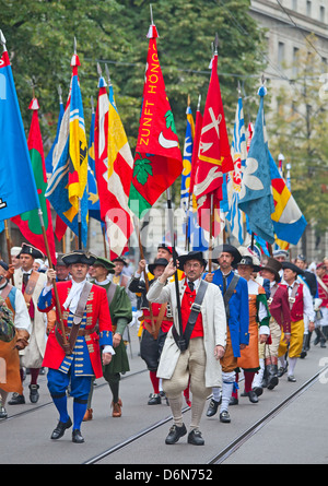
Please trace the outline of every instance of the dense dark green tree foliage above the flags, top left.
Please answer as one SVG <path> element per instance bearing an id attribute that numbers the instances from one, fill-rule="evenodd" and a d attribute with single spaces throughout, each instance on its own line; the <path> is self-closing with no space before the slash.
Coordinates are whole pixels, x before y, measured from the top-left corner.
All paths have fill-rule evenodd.
<path id="1" fill-rule="evenodd" d="M 186 125 L 187 96 L 196 111 L 199 94 L 204 105 L 209 85 L 211 44 L 219 34 L 219 75 L 227 119 L 233 121 L 237 80 L 248 92 L 261 68 L 261 32 L 248 15 L 249 0 L 154 0 L 160 33 L 159 57 L 179 140 Z M 31 80 L 43 115 L 43 137 L 56 132 L 58 85 L 63 99 L 71 76 L 73 38 L 78 43 L 79 78 L 86 127 L 91 96 L 97 97 L 97 69 L 110 72 L 116 104 L 131 147 L 138 137 L 150 25 L 145 0 L 0 0 L 0 28 L 7 38 L 19 100 L 27 130 Z M 254 46 L 259 46 L 254 48 Z"/>

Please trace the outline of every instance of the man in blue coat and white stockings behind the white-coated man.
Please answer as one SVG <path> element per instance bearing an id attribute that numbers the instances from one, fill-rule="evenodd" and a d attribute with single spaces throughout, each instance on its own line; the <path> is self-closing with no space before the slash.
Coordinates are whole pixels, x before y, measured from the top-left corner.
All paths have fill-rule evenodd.
<path id="1" fill-rule="evenodd" d="M 248 287 L 246 280 L 238 276 L 233 269 L 242 259 L 238 250 L 232 245 L 224 244 L 216 248 L 215 252 L 219 254 L 219 258 L 212 261 L 219 263 L 220 269 L 208 273 L 204 280 L 220 287 L 229 327 L 226 349 L 224 357 L 221 359 L 222 396 L 220 396 L 220 389 L 213 388 L 213 399 L 210 402 L 207 416 L 215 415 L 221 402 L 220 420 L 230 423 L 231 418 L 227 408 L 235 381 L 237 358 L 241 356 L 241 349 L 244 349 L 249 342 Z"/>

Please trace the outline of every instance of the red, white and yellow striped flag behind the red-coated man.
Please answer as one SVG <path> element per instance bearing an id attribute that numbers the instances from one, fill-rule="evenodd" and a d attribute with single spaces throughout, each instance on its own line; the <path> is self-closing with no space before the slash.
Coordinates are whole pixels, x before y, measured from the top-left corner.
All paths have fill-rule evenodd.
<path id="1" fill-rule="evenodd" d="M 133 157 L 120 120 L 113 85 L 109 102 L 104 78 L 99 79 L 95 122 L 96 180 L 101 217 L 106 223 L 110 259 L 127 250 L 133 232 L 132 213 L 128 206 Z"/>

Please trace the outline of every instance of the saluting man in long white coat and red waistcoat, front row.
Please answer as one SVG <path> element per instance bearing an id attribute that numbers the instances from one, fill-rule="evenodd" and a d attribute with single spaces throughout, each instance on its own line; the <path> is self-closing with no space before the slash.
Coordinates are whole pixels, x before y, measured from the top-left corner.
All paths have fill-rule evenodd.
<path id="1" fill-rule="evenodd" d="M 174 419 L 165 443 L 176 443 L 187 434 L 181 407 L 183 391 L 190 380 L 192 403 L 188 442 L 202 446 L 204 440 L 199 423 L 211 388 L 221 386 L 220 358 L 225 352 L 226 317 L 220 288 L 201 278 L 207 265 L 202 253 L 190 251 L 179 257 L 178 262 L 186 274 L 186 278 L 178 282 L 181 319 L 178 317 L 175 282 L 165 285 L 177 270 L 173 261 L 147 295 L 153 303 L 171 303 L 174 315 L 174 324 L 167 333 L 157 369 Z"/>

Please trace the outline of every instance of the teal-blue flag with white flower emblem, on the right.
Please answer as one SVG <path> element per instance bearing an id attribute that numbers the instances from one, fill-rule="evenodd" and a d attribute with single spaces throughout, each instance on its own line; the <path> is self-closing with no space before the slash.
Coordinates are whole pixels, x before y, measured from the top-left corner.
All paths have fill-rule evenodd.
<path id="1" fill-rule="evenodd" d="M 258 94 L 260 105 L 244 168 L 238 208 L 248 215 L 250 230 L 272 245 L 274 242 L 274 229 L 271 214 L 274 212 L 274 203 L 271 193 L 269 149 L 263 109 L 265 86 L 260 87 Z"/>

